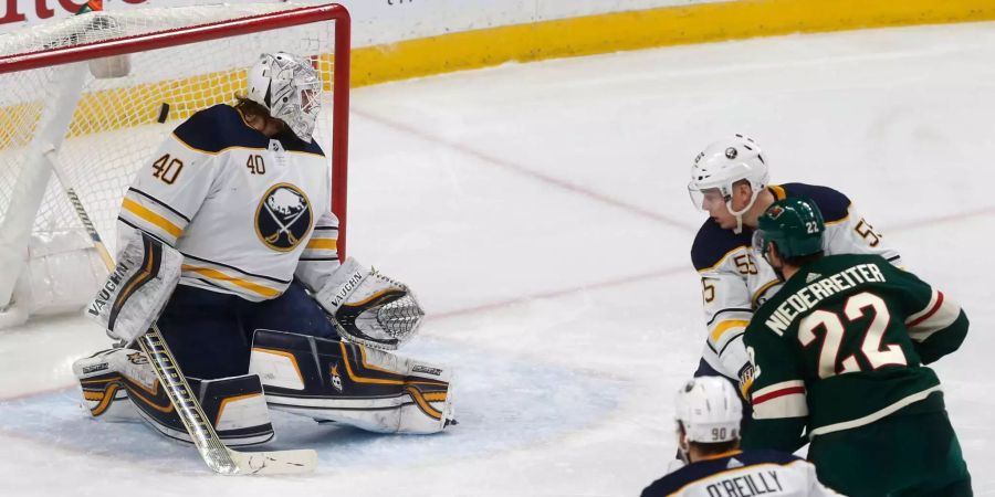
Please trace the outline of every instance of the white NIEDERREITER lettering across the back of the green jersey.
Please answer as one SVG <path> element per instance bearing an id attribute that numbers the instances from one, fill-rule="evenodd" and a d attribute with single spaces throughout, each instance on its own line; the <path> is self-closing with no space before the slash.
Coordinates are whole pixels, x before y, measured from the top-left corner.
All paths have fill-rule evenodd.
<path id="1" fill-rule="evenodd" d="M 766 322 L 764 322 L 767 325 L 767 328 L 771 328 L 771 330 L 778 336 L 784 335 L 784 330 L 792 325 L 792 321 L 794 321 L 798 315 L 817 306 L 824 299 L 862 283 L 884 282 L 884 274 L 882 274 L 881 268 L 873 263 L 858 264 L 830 276 L 821 276 L 813 273 L 809 274 L 808 277 L 821 279 L 815 281 L 798 292 L 795 292 L 790 297 L 781 303 L 781 305 L 777 306 L 777 309 L 775 309 Z"/>

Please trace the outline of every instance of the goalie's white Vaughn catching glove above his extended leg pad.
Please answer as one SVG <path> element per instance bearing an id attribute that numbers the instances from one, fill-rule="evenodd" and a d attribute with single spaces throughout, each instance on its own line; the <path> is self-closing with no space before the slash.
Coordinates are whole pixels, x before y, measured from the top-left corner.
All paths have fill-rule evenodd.
<path id="1" fill-rule="evenodd" d="M 315 295 L 343 338 L 397 350 L 415 336 L 425 311 L 407 285 L 349 257 Z"/>

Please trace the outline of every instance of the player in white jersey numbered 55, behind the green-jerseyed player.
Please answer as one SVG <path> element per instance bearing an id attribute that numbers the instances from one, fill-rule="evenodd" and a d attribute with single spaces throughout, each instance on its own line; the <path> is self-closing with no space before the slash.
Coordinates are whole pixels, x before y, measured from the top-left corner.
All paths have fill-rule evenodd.
<path id="1" fill-rule="evenodd" d="M 708 328 L 695 376 L 721 374 L 736 381 L 744 398 L 753 370 L 743 332 L 754 310 L 783 283 L 751 246 L 757 220 L 772 203 L 788 197 L 813 199 L 826 219 L 826 255 L 878 254 L 901 265 L 898 252 L 884 245 L 845 194 L 828 187 L 771 184 L 760 146 L 742 135 L 715 141 L 698 155 L 688 190 L 694 207 L 709 213 L 691 247 Z"/>

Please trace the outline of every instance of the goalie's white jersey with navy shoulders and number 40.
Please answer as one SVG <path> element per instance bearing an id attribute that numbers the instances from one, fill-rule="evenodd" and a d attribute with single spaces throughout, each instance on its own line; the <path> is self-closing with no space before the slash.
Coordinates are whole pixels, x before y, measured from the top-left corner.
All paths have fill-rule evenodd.
<path id="1" fill-rule="evenodd" d="M 180 124 L 132 182 L 119 239 L 143 230 L 184 255 L 179 284 L 261 302 L 294 275 L 321 288 L 338 267 L 328 160 L 290 131 L 269 138 L 231 106 Z"/>

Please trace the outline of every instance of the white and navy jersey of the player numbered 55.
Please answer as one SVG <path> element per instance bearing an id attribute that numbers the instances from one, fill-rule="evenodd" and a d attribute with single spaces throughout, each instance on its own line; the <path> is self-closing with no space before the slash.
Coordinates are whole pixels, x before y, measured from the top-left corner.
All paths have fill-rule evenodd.
<path id="1" fill-rule="evenodd" d="M 826 255 L 878 254 L 901 266 L 901 257 L 884 246 L 882 236 L 860 216 L 842 193 L 827 187 L 786 183 L 769 187 L 777 200 L 808 197 L 826 221 Z M 754 309 L 779 288 L 774 269 L 752 250 L 752 231 L 735 234 L 712 220 L 699 230 L 691 261 L 701 276 L 708 340 L 702 360 L 716 372 L 737 380 L 745 392 L 753 371 L 743 346 L 743 334 Z"/>

